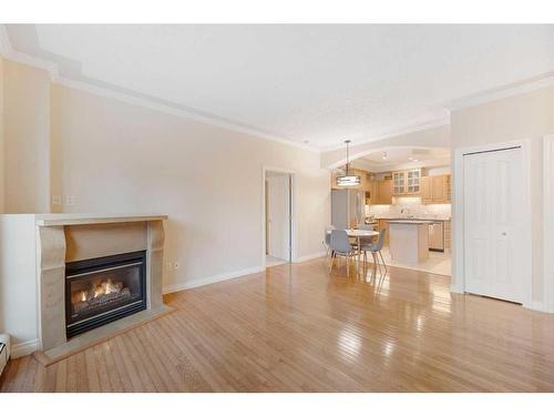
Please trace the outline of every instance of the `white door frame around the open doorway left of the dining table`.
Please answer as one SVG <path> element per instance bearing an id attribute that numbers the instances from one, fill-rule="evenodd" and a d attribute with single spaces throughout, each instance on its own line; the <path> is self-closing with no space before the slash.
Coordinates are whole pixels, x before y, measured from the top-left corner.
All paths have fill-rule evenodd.
<path id="1" fill-rule="evenodd" d="M 289 244 L 290 244 L 290 255 L 289 263 L 295 263 L 298 258 L 298 214 L 297 214 L 297 195 L 298 195 L 298 184 L 296 172 L 289 169 L 275 168 L 263 165 L 261 166 L 261 266 L 266 267 L 266 177 L 267 172 L 284 173 L 290 175 L 290 232 L 289 232 Z"/>

